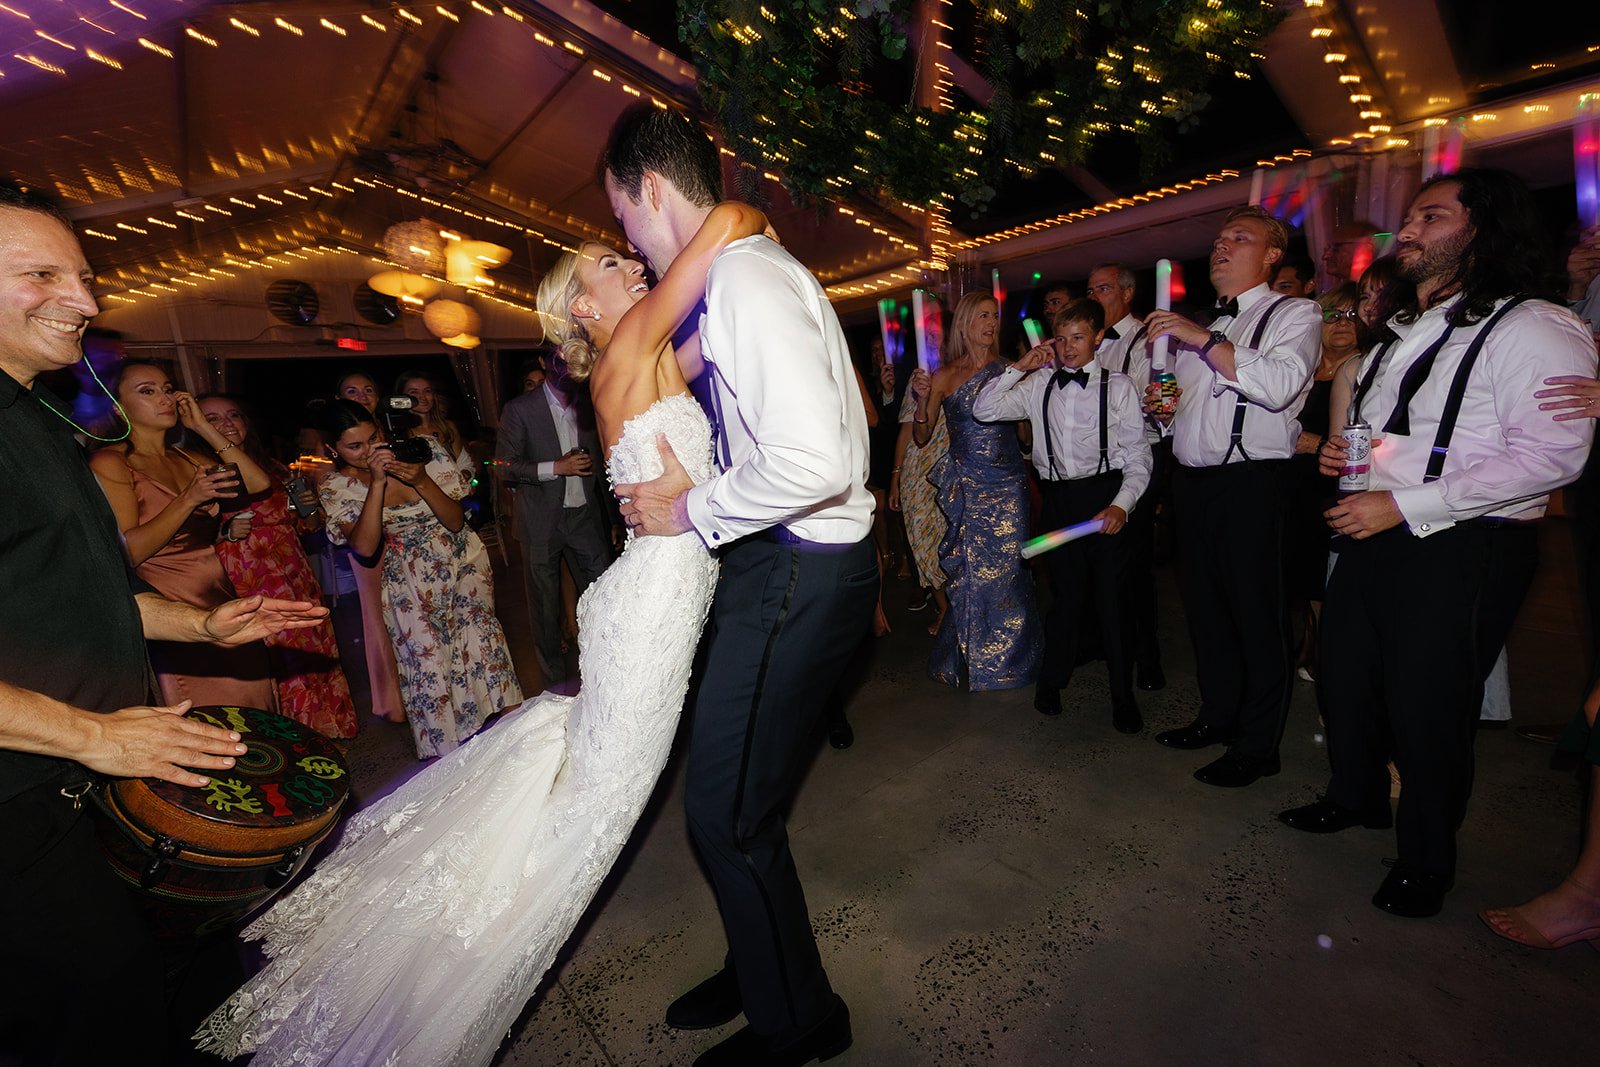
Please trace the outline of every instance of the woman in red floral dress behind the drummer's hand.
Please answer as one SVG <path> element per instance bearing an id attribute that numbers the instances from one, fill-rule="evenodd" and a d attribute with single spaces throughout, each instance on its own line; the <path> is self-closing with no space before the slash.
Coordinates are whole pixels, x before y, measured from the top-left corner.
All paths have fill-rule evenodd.
<path id="1" fill-rule="evenodd" d="M 206 422 L 234 448 L 261 467 L 270 485 L 261 493 L 238 496 L 222 507 L 222 537 L 216 553 L 240 597 L 261 593 L 282 600 L 322 600 L 322 587 L 299 542 L 299 526 L 322 525 L 320 509 L 310 515 L 290 499 L 290 469 L 267 456 L 251 434 L 250 419 L 235 397 L 200 397 Z M 315 494 L 309 504 L 315 506 Z M 294 509 L 294 510 L 291 510 Z M 339 669 L 339 643 L 325 625 L 283 630 L 267 638 L 267 662 L 278 686 L 278 710 L 328 737 L 355 736 L 355 702 L 350 683 Z"/>

